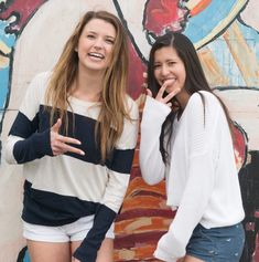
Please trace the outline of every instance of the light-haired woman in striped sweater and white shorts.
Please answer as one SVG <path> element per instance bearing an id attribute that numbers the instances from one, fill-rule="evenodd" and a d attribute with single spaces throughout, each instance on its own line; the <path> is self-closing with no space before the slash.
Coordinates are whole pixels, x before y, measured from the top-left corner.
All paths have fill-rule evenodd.
<path id="1" fill-rule="evenodd" d="M 111 262 L 130 177 L 138 107 L 126 94 L 127 38 L 87 12 L 52 72 L 31 82 L 6 158 L 24 165 L 23 234 L 32 262 Z"/>

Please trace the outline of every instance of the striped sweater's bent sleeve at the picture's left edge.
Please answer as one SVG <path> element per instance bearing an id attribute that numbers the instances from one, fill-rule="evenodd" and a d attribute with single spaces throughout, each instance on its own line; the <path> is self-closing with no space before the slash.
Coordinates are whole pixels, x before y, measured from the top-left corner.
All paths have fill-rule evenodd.
<path id="1" fill-rule="evenodd" d="M 4 157 L 9 164 L 24 164 L 52 155 L 50 129 L 39 133 L 39 108 L 46 76 L 46 73 L 36 75 L 28 87 L 7 139 Z"/>

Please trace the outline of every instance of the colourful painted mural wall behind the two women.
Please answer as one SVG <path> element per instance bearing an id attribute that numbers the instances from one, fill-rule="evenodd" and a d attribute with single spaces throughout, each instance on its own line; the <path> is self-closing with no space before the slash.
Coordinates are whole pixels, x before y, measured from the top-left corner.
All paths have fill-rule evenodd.
<path id="1" fill-rule="evenodd" d="M 0 262 L 30 261 L 21 237 L 22 167 L 4 163 L 7 134 L 32 77 L 53 67 L 78 18 L 93 9 L 111 11 L 128 32 L 129 93 L 140 108 L 142 73 L 155 38 L 171 30 L 194 42 L 212 88 L 226 102 L 235 120 L 246 210 L 241 261 L 259 262 L 257 0 L 0 0 Z M 131 182 L 116 222 L 115 261 L 155 261 L 155 243 L 172 218 L 165 207 L 164 184 L 150 187 L 142 181 L 137 149 Z"/>

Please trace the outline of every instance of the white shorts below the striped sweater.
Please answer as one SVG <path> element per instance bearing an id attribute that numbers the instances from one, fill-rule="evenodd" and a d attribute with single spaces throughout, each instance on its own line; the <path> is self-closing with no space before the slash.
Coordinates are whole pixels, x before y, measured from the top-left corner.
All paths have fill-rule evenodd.
<path id="1" fill-rule="evenodd" d="M 47 227 L 32 224 L 23 221 L 23 237 L 29 240 L 44 242 L 74 242 L 85 239 L 88 231 L 91 229 L 95 216 L 87 216 L 76 220 L 73 223 L 61 227 Z M 106 238 L 115 238 L 115 223 L 106 233 Z"/>

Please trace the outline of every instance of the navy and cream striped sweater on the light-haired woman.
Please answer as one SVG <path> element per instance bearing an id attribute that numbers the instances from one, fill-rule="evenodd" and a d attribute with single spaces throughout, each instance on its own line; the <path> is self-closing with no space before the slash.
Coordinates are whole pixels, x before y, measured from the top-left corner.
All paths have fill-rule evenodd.
<path id="1" fill-rule="evenodd" d="M 138 136 L 138 106 L 127 96 L 132 120 L 125 119 L 122 135 L 104 164 L 99 143 L 95 143 L 99 103 L 69 97 L 67 136 L 82 142 L 76 147 L 85 156 L 66 153 L 54 157 L 46 109 L 51 105 L 45 105 L 48 78 L 50 73 L 41 73 L 31 82 L 4 155 L 9 164 L 24 164 L 24 221 L 54 227 L 95 214 L 93 228 L 74 253 L 82 262 L 94 262 L 128 187 Z"/>

